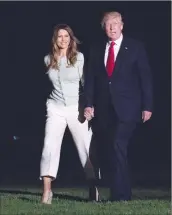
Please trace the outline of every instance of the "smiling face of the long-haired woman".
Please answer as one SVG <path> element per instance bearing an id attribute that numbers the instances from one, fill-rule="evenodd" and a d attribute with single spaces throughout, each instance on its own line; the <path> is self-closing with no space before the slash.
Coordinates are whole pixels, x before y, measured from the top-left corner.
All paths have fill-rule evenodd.
<path id="1" fill-rule="evenodd" d="M 67 49 L 70 44 L 70 35 L 69 33 L 64 30 L 60 29 L 57 34 L 57 46 L 60 49 Z"/>

